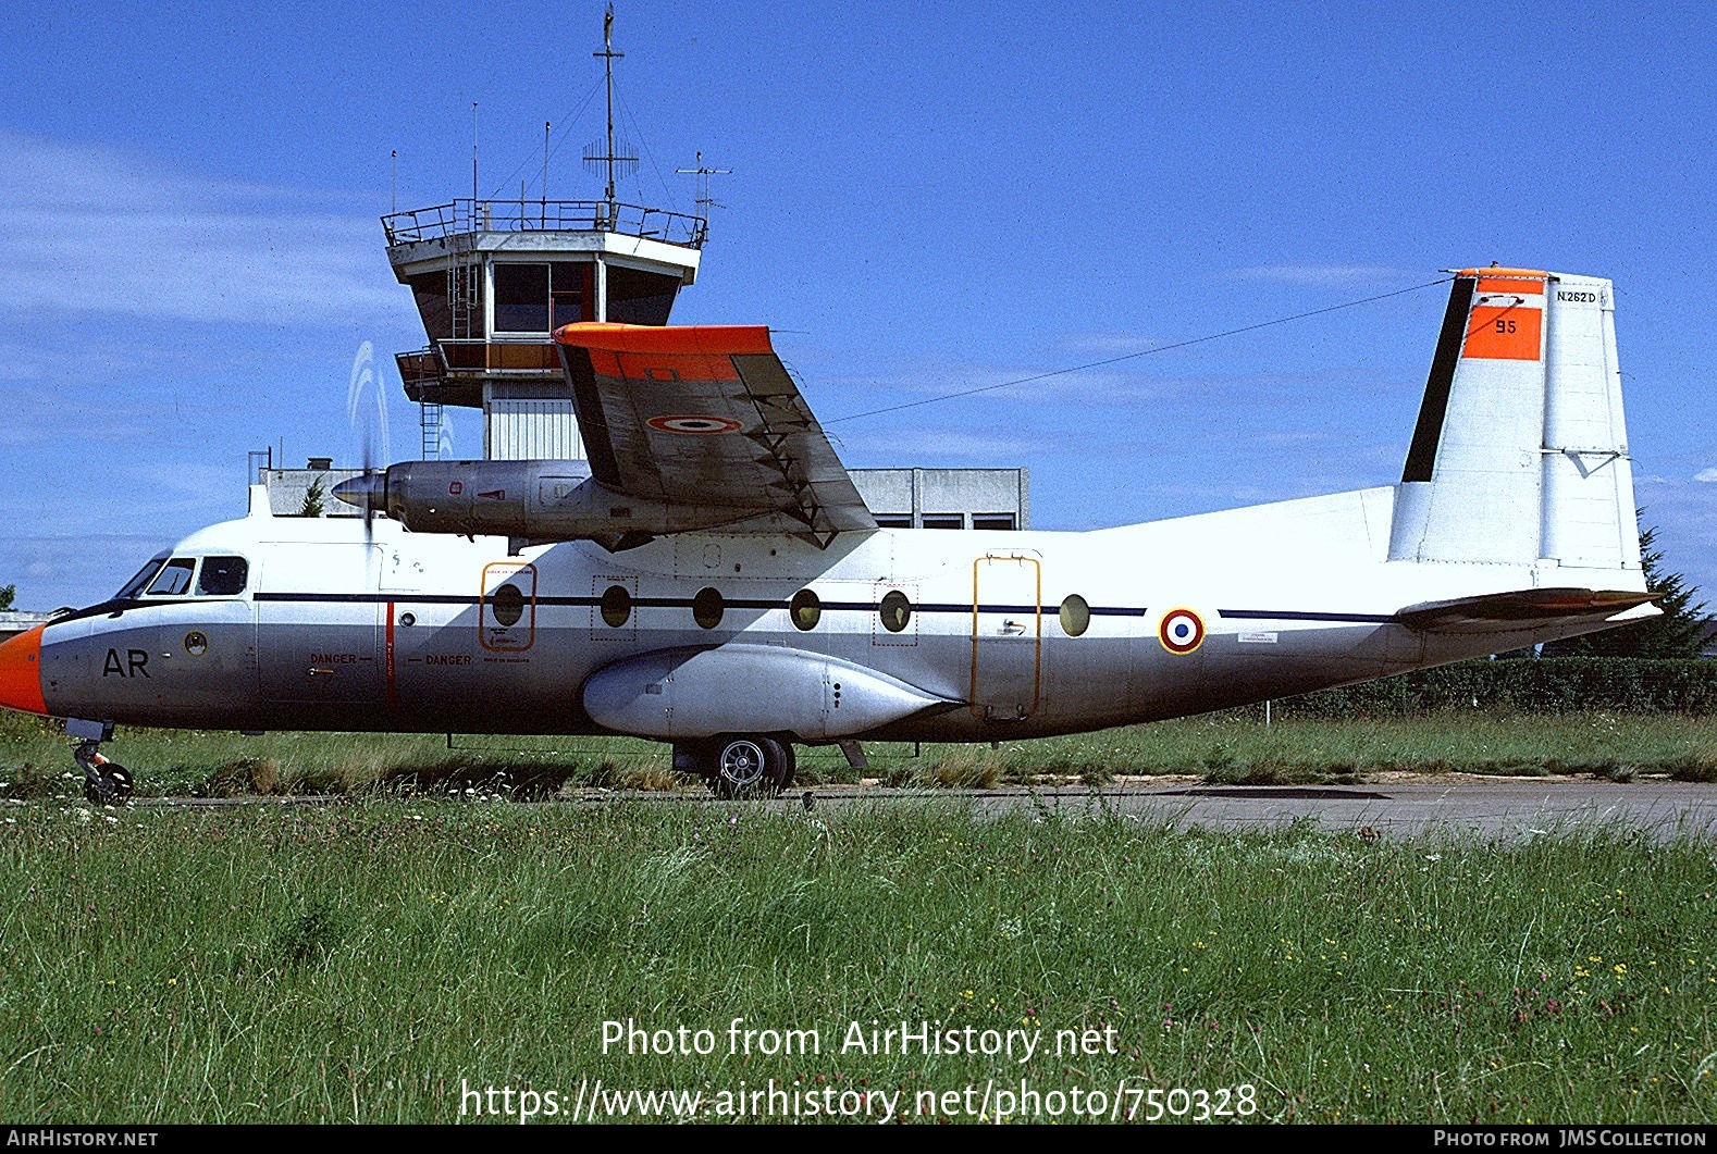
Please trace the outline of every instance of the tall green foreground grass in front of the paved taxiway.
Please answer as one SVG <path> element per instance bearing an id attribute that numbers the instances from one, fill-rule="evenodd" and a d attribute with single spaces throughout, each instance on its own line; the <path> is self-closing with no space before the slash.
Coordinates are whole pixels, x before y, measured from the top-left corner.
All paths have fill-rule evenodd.
<path id="1" fill-rule="evenodd" d="M 462 1087 L 580 1078 L 910 1111 L 1023 1077 L 1250 1085 L 1257 1120 L 1696 1123 L 1717 1113 L 1714 891 L 1708 845 L 1216 835 L 1097 800 L 996 821 L 960 800 L 10 805 L 0 1120 L 457 1121 Z M 735 1017 L 816 1030 L 821 1054 L 730 1054 Z M 625 1018 L 716 1053 L 604 1054 Z M 840 1053 L 872 1018 L 1046 1048 L 1113 1029 L 1114 1053 Z"/>

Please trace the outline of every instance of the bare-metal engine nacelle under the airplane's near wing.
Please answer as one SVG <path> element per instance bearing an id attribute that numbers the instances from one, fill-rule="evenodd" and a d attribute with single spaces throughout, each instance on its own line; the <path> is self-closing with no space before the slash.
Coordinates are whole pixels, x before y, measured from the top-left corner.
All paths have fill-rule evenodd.
<path id="1" fill-rule="evenodd" d="M 668 505 L 603 488 L 582 460 L 412 460 L 342 481 L 347 505 L 412 532 L 601 541 L 711 529 L 757 510 Z"/>

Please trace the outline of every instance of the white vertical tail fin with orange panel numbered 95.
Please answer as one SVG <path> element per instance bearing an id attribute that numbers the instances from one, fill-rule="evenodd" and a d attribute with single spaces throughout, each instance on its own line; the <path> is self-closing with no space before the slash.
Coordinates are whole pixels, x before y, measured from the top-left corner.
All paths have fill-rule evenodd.
<path id="1" fill-rule="evenodd" d="M 1516 268 L 1456 275 L 1389 560 L 1638 574 L 1611 282 Z"/>

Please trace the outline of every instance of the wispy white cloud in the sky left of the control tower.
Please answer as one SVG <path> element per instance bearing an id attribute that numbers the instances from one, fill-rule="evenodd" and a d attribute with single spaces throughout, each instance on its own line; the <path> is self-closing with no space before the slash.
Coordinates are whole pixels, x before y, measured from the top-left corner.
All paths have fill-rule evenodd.
<path id="1" fill-rule="evenodd" d="M 275 328 L 409 311 L 376 275 L 376 218 L 306 210 L 309 196 L 0 131 L 10 307 Z"/>

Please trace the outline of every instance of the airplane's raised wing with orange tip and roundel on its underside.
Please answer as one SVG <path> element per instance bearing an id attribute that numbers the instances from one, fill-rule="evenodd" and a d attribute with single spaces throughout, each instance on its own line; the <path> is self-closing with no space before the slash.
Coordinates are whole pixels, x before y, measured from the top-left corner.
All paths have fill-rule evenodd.
<path id="1" fill-rule="evenodd" d="M 740 529 L 755 517 L 819 544 L 876 529 L 766 326 L 584 323 L 555 343 L 604 488 L 740 510 Z"/>

